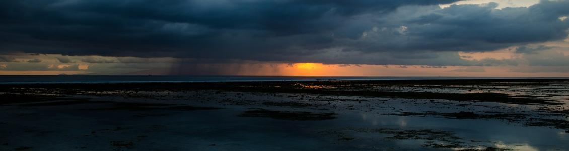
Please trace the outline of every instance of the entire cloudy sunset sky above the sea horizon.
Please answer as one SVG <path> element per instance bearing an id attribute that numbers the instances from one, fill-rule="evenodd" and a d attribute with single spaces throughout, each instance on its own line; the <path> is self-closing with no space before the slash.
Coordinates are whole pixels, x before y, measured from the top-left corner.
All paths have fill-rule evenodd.
<path id="1" fill-rule="evenodd" d="M 5 0 L 0 75 L 569 76 L 569 0 Z"/>

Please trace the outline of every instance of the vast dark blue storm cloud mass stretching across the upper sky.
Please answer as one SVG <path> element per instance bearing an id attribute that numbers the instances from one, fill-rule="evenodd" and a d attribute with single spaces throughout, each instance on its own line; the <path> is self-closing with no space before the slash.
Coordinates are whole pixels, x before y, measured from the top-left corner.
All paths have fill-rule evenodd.
<path id="1" fill-rule="evenodd" d="M 0 52 L 446 66 L 469 63 L 430 52 L 567 37 L 569 19 L 558 18 L 569 14 L 568 1 L 501 10 L 496 3 L 436 5 L 453 1 L 6 0 L 0 2 Z M 388 58 L 368 57 L 384 52 Z M 424 61 L 436 59 L 447 60 Z"/>

